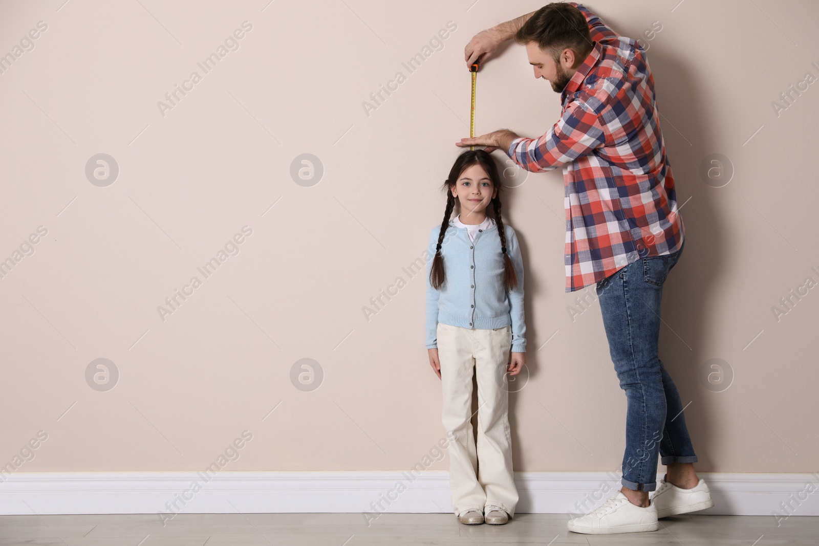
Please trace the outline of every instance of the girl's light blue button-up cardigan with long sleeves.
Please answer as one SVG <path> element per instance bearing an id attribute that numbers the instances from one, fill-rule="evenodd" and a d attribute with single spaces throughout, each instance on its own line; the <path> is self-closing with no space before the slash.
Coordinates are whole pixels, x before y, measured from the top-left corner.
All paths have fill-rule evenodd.
<path id="1" fill-rule="evenodd" d="M 450 220 L 441 255 L 446 280 L 441 290 L 432 288 L 429 272 L 441 225 L 429 233 L 427 262 L 427 349 L 437 348 L 438 323 L 465 328 L 500 328 L 512 325 L 512 351 L 526 352 L 526 323 L 523 317 L 523 259 L 514 229 L 504 224 L 506 252 L 518 275 L 514 291 L 504 289 L 504 259 L 500 252 L 498 226 L 484 229 L 470 241 L 466 228 Z"/>

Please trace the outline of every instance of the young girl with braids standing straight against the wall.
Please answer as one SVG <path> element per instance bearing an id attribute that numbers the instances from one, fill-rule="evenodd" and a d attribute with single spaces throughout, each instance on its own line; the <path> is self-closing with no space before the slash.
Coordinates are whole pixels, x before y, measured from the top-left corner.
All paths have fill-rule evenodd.
<path id="1" fill-rule="evenodd" d="M 464 151 L 442 186 L 444 220 L 429 237 L 428 255 L 435 257 L 427 267 L 426 345 L 441 379 L 442 421 L 455 437 L 449 448 L 452 506 L 468 525 L 506 523 L 518 503 L 505 373 L 517 375 L 526 363 L 523 259 L 514 229 L 500 218 L 501 187 L 488 152 Z M 450 220 L 456 201 L 460 214 Z M 486 215 L 490 205 L 494 219 Z"/>

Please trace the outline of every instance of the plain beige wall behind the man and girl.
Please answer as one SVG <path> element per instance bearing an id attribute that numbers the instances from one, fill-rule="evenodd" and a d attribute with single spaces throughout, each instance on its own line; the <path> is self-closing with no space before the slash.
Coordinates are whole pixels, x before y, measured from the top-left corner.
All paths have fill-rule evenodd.
<path id="1" fill-rule="evenodd" d="M 425 283 L 404 268 L 441 222 L 437 188 L 468 136 L 464 45 L 541 4 L 266 3 L 3 4 L 2 54 L 48 25 L 0 74 L 0 259 L 20 258 L 0 279 L 0 462 L 48 435 L 17 472 L 198 470 L 242 431 L 252 438 L 226 470 L 400 470 L 443 436 Z M 621 34 L 662 27 L 644 43 L 687 244 L 661 356 L 690 403 L 700 469 L 816 471 L 819 287 L 778 320 L 772 307 L 819 282 L 819 83 L 778 115 L 771 102 L 819 77 L 819 9 L 676 4 L 588 5 Z M 245 20 L 238 50 L 203 74 L 197 61 Z M 409 74 L 401 63 L 448 21 L 457 29 Z M 157 102 L 194 70 L 201 81 L 163 115 Z M 482 68 L 477 93 L 478 133 L 539 136 L 559 116 L 516 45 Z M 99 153 L 119 166 L 105 187 L 84 172 Z M 324 167 L 310 187 L 290 174 L 302 153 Z M 724 187 L 699 175 L 713 153 L 733 165 Z M 513 185 L 531 373 L 511 397 L 515 469 L 618 469 L 626 399 L 600 310 L 589 296 L 572 320 L 578 294 L 563 292 L 562 174 Z M 16 256 L 31 234 L 34 253 Z M 204 278 L 197 267 L 236 234 L 238 254 Z M 193 276 L 201 286 L 163 320 L 157 307 Z M 119 373 L 104 392 L 86 378 L 101 358 Z M 305 358 L 324 371 L 310 392 L 291 381 Z M 709 359 L 730 366 L 726 390 L 700 381 Z"/>

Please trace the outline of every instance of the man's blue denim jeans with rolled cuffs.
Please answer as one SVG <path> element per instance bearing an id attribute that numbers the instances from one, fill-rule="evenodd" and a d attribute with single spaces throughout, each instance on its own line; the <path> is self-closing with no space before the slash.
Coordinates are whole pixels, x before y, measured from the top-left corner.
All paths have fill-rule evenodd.
<path id="1" fill-rule="evenodd" d="M 685 244 L 683 244 L 685 246 Z M 626 453 L 622 485 L 657 489 L 661 462 L 696 463 L 674 381 L 658 358 L 663 282 L 682 254 L 646 256 L 597 283 L 609 353 L 626 391 Z"/>

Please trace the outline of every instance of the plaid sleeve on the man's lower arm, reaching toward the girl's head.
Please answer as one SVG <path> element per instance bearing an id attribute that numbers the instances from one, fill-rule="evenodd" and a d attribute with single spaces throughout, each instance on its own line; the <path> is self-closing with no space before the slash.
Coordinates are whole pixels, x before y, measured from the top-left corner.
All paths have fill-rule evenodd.
<path id="1" fill-rule="evenodd" d="M 540 173 L 589 155 L 604 144 L 605 133 L 598 116 L 575 101 L 541 138 L 515 138 L 506 155 L 523 169 Z"/>

